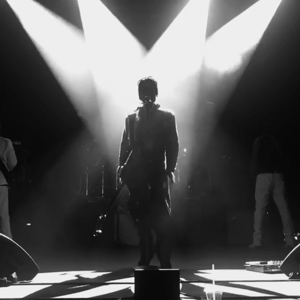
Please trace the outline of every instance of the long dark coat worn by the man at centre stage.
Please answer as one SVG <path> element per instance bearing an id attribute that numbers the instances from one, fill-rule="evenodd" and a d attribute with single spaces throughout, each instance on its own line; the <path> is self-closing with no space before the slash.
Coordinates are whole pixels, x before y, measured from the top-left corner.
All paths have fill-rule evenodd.
<path id="1" fill-rule="evenodd" d="M 161 110 L 159 104 L 142 105 L 125 118 L 118 169 L 125 166 L 124 181 L 129 188 L 148 180 L 149 173 L 163 174 L 164 197 L 170 213 L 167 173 L 174 172 L 178 158 L 178 134 L 173 113 Z"/>

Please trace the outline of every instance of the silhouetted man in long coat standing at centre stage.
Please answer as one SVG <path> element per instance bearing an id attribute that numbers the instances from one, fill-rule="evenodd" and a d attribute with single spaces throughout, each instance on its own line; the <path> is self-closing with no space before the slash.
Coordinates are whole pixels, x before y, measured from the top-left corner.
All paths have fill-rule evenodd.
<path id="1" fill-rule="evenodd" d="M 156 252 L 160 267 L 170 268 L 169 181 L 174 182 L 179 147 L 175 116 L 155 103 L 158 91 L 153 78 L 139 80 L 138 95 L 142 105 L 125 119 L 118 173 L 128 187 L 128 210 L 136 220 L 140 240 L 138 265 L 149 265 Z"/>

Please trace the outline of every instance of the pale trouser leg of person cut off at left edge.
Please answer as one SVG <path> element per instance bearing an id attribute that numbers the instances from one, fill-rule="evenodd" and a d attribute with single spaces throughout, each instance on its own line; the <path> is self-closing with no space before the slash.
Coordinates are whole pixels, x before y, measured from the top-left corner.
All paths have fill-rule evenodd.
<path id="1" fill-rule="evenodd" d="M 0 185 L 0 233 L 12 239 L 8 211 L 8 187 Z"/>

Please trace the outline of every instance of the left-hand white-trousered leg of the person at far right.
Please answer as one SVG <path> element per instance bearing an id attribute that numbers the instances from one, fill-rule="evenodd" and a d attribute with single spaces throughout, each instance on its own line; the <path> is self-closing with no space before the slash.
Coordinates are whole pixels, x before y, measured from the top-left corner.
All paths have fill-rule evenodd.
<path id="1" fill-rule="evenodd" d="M 269 200 L 272 174 L 259 174 L 255 184 L 255 212 L 254 212 L 254 233 L 253 243 L 250 247 L 261 245 L 262 221 L 265 208 Z"/>

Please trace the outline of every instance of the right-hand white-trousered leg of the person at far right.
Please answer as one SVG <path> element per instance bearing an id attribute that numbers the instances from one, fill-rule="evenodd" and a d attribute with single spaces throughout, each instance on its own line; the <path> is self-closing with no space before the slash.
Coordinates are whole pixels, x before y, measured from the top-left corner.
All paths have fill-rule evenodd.
<path id="1" fill-rule="evenodd" d="M 285 198 L 282 174 L 273 174 L 273 199 L 281 216 L 285 244 L 292 247 L 295 242 L 293 237 L 293 224 Z"/>

